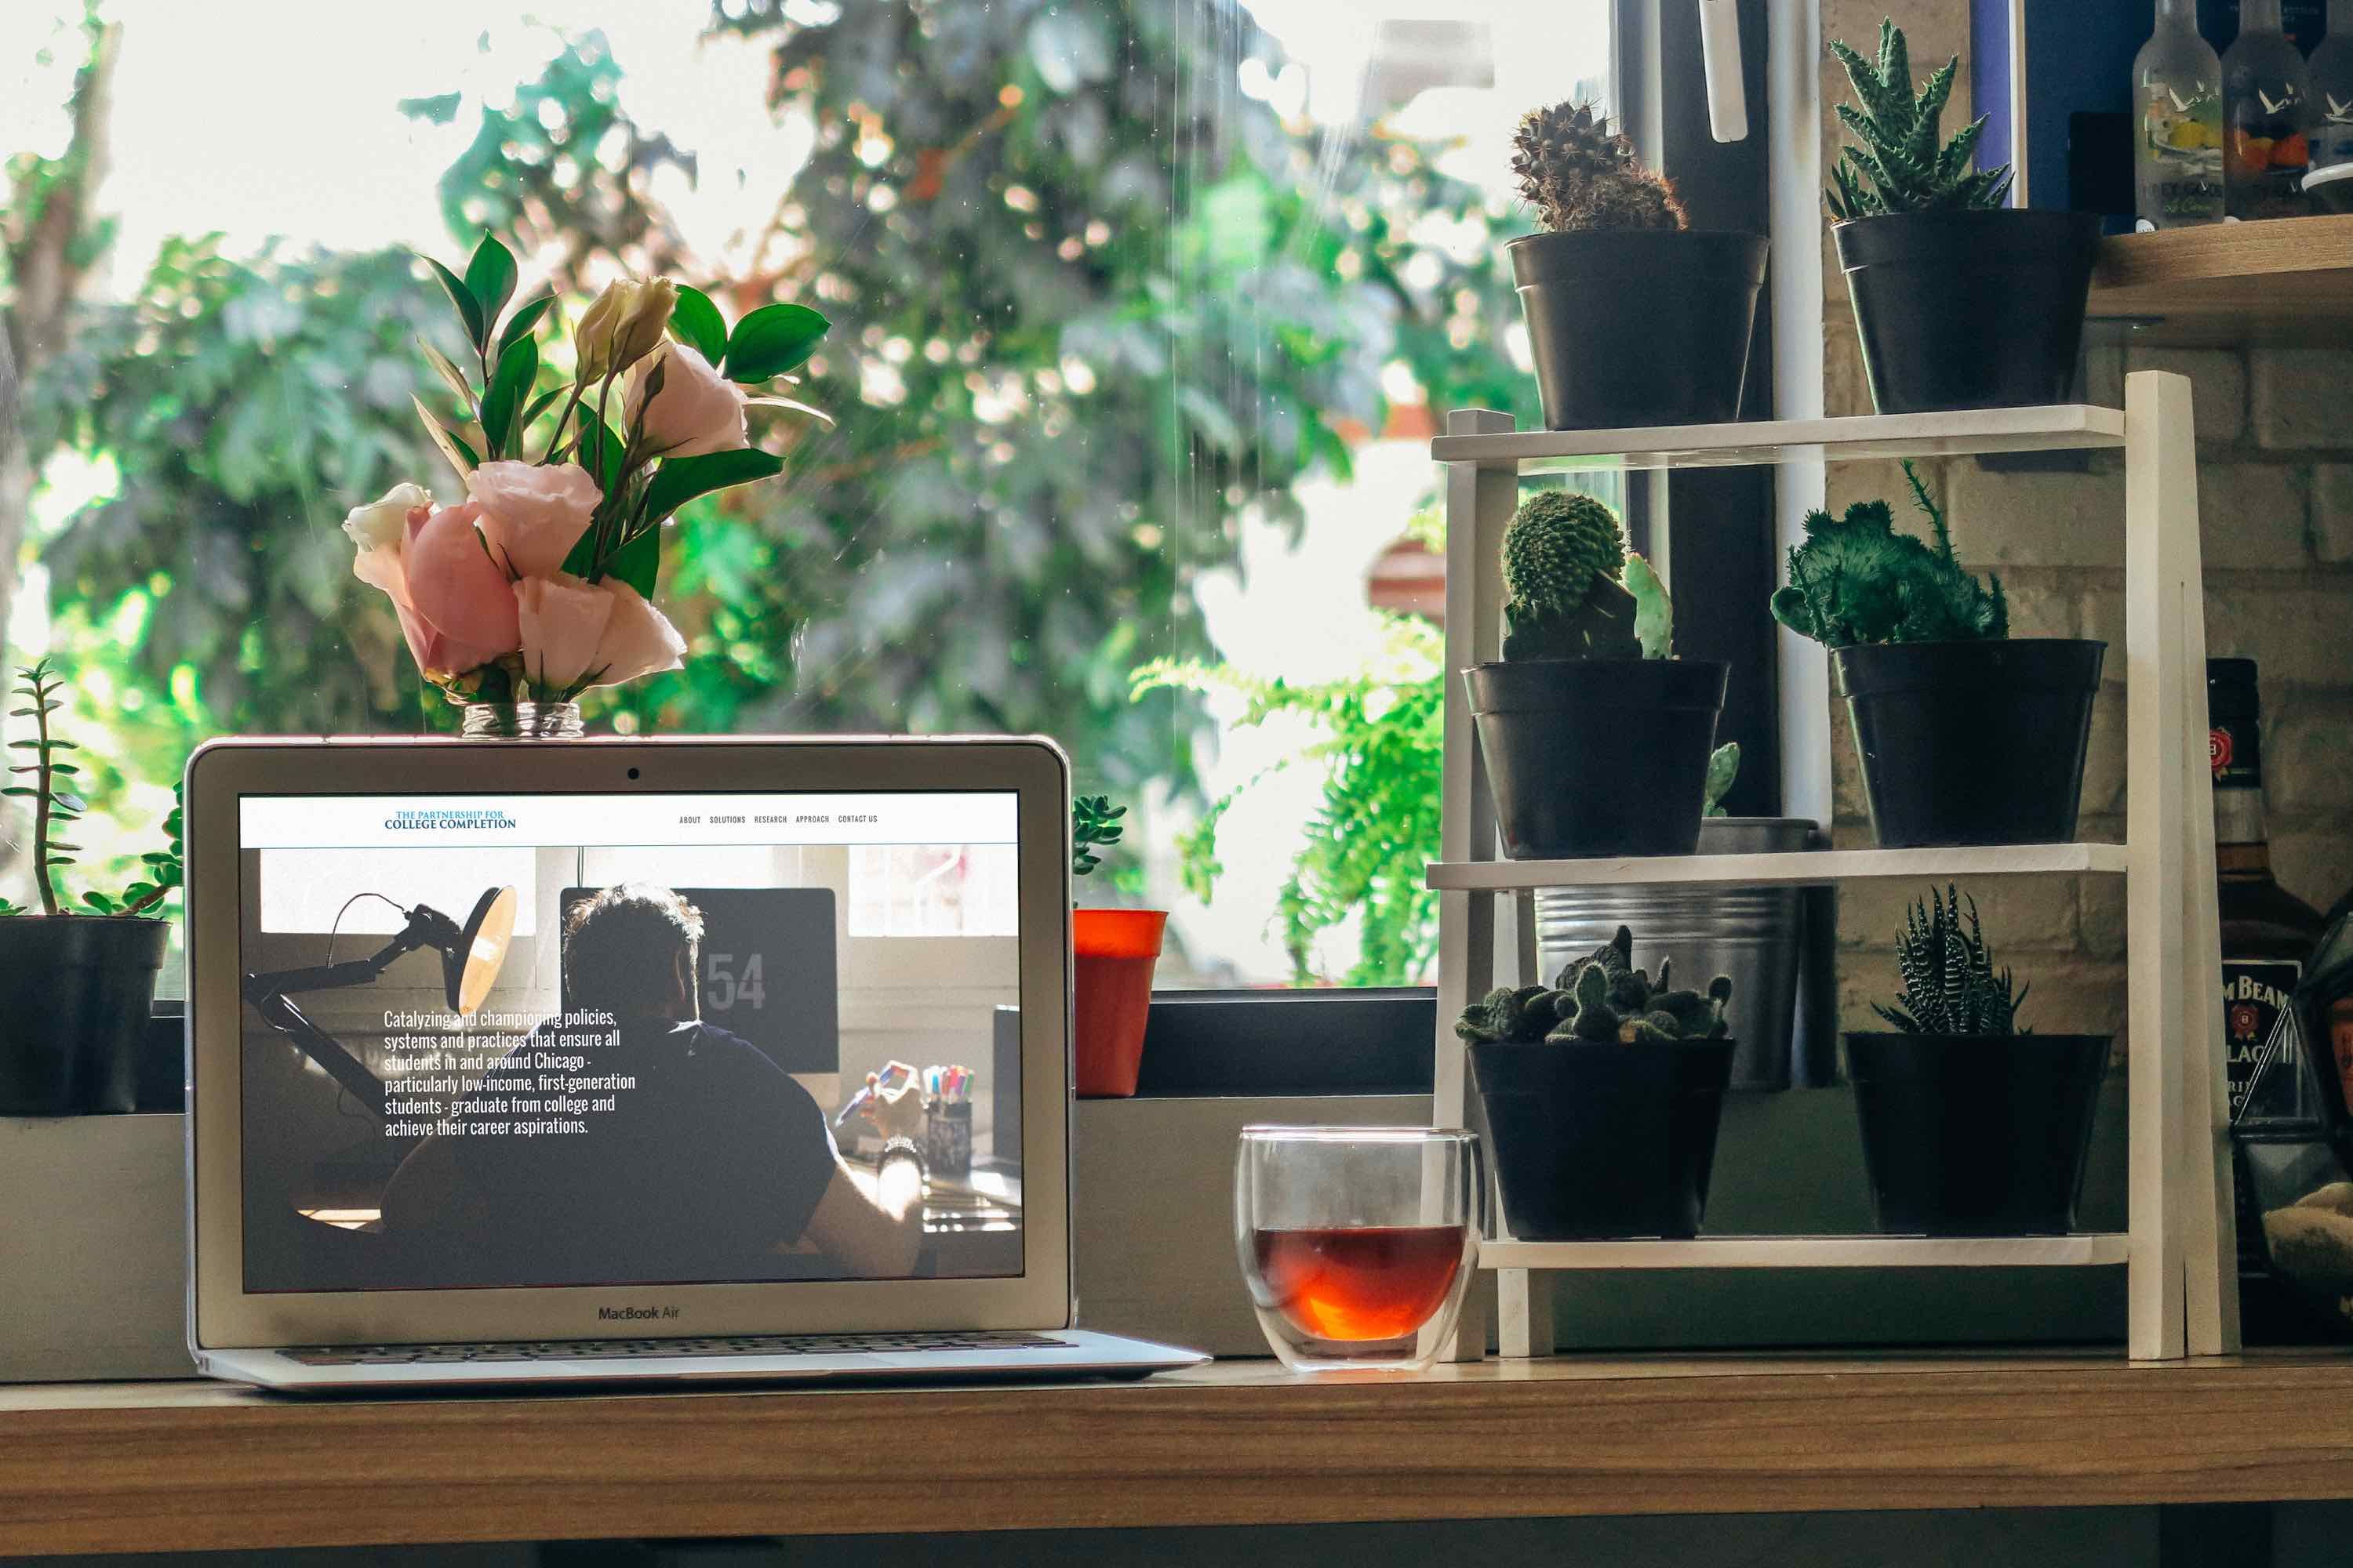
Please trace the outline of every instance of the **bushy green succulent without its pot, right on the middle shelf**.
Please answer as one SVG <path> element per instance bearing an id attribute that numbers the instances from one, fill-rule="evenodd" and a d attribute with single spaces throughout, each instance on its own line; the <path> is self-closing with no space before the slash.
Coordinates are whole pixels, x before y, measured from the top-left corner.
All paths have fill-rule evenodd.
<path id="1" fill-rule="evenodd" d="M 1845 517 L 1805 515 L 1805 543 L 1788 552 L 1788 588 L 1774 621 L 1824 646 L 1857 642 L 1981 642 L 2009 635 L 2002 578 L 1981 585 L 1953 557 L 1953 531 L 1927 484 L 1904 463 L 1934 545 L 1897 534 L 1885 501 L 1857 501 Z"/>

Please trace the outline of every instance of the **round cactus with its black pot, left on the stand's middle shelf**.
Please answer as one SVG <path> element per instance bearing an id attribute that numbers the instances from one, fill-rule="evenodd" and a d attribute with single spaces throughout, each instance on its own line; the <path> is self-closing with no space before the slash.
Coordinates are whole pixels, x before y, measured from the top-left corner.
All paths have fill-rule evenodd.
<path id="1" fill-rule="evenodd" d="M 1593 496 L 1520 505 L 1504 590 L 1504 658 L 1464 672 L 1504 853 L 1692 853 L 1727 665 L 1671 656 L 1666 585 Z"/>

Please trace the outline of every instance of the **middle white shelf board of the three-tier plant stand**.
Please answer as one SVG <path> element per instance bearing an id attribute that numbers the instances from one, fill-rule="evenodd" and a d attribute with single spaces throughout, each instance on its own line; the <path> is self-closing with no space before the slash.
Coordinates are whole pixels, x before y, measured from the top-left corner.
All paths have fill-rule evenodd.
<path id="1" fill-rule="evenodd" d="M 1555 886 L 1758 886 L 1871 877 L 2033 877 L 2122 872 L 2122 844 L 1991 844 L 1955 849 L 1817 849 L 1772 856 L 1617 856 L 1607 860 L 1438 860 L 1428 886 L 1506 893 Z"/>

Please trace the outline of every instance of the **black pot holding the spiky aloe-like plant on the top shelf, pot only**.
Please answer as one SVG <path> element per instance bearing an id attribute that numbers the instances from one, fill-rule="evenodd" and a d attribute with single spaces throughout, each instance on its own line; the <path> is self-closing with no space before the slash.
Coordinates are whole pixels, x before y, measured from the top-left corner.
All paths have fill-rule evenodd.
<path id="1" fill-rule="evenodd" d="M 2068 400 L 2099 214 L 1897 212 L 1831 237 L 1880 414 Z"/>

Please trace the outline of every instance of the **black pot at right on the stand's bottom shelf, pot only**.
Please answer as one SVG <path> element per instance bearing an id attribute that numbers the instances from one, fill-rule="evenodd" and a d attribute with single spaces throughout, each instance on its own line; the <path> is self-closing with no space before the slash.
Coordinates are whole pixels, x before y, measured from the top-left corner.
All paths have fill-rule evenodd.
<path id="1" fill-rule="evenodd" d="M 2106 1034 L 1847 1034 L 1847 1067 L 1882 1232 L 2075 1229 Z"/>

